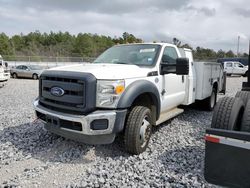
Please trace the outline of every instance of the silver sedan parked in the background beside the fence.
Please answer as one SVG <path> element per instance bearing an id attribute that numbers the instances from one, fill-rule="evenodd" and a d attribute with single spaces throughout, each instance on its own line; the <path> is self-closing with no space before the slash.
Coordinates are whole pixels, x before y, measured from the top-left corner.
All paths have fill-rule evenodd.
<path id="1" fill-rule="evenodd" d="M 33 78 L 38 79 L 44 68 L 39 65 L 18 65 L 10 70 L 13 78 Z"/>

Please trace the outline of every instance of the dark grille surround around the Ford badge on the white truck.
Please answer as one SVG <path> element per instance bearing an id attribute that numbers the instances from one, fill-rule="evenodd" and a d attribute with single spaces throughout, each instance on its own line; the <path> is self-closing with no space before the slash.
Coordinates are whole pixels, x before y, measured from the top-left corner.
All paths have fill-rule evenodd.
<path id="1" fill-rule="evenodd" d="M 57 72 L 54 73 L 51 75 L 51 71 L 47 71 L 40 77 L 40 105 L 54 111 L 72 114 L 84 114 L 94 108 L 95 93 L 93 92 L 95 92 L 96 81 L 93 75 L 86 73 L 79 75 L 79 73 L 72 72 L 64 72 L 61 75 L 57 75 Z M 51 93 L 53 87 L 63 89 L 64 94 L 62 96 L 53 95 Z M 86 91 L 87 95 L 92 97 L 87 103 Z"/>

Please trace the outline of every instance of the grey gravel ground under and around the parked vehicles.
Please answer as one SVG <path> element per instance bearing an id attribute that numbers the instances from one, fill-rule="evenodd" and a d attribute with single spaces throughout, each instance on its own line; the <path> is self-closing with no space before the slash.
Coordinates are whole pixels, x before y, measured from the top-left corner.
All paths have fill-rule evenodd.
<path id="1" fill-rule="evenodd" d="M 227 95 L 244 80 L 228 78 Z M 28 79 L 0 89 L 0 187 L 215 187 L 203 177 L 212 112 L 186 108 L 155 128 L 146 152 L 130 156 L 121 139 L 91 146 L 47 132 L 34 121 L 37 95 L 38 81 Z"/>

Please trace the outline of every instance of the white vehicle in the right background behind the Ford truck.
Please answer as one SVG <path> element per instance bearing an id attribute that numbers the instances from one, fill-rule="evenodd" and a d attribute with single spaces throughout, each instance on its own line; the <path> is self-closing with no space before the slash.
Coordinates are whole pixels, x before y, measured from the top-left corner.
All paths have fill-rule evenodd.
<path id="1" fill-rule="evenodd" d="M 228 76 L 231 75 L 242 75 L 247 76 L 248 66 L 244 66 L 238 61 L 225 61 L 224 71 Z"/>

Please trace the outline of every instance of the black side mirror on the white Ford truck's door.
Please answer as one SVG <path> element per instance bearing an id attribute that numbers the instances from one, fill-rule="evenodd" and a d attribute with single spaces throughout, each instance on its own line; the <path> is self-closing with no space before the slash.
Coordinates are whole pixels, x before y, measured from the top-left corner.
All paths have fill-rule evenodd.
<path id="1" fill-rule="evenodd" d="M 164 74 L 170 74 L 170 73 L 177 74 L 177 75 L 188 75 L 189 60 L 187 58 L 177 58 L 176 64 L 167 63 L 167 62 L 161 63 L 160 74 L 164 75 Z"/>

